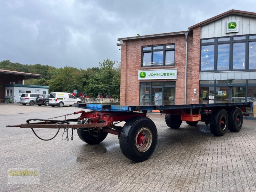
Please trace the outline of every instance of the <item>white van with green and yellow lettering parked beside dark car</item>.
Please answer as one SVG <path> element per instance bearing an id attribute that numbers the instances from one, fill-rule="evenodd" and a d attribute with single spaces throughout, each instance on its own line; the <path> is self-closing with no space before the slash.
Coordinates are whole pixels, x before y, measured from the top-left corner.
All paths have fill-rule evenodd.
<path id="1" fill-rule="evenodd" d="M 81 103 L 81 100 L 76 98 L 71 93 L 63 93 L 63 92 L 52 92 L 49 96 L 49 105 L 55 107 L 58 105 L 59 107 L 63 107 L 63 105 L 72 106 L 74 103 Z"/>

